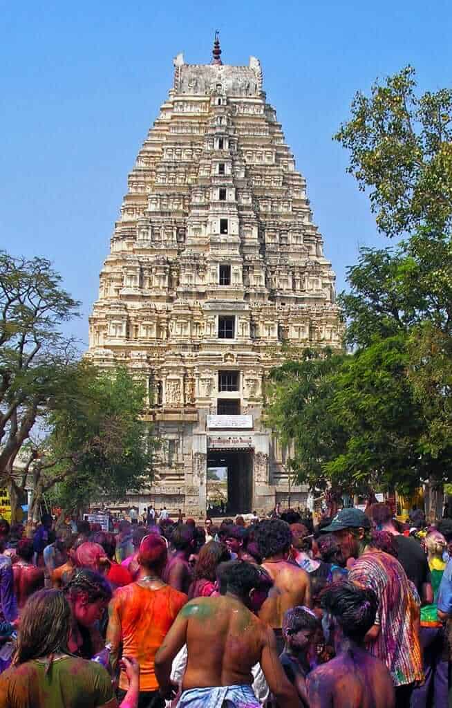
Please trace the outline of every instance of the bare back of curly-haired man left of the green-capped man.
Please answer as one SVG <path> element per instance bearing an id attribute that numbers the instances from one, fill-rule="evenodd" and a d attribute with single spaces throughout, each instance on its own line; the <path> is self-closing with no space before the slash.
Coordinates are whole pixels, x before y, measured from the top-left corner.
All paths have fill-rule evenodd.
<path id="1" fill-rule="evenodd" d="M 262 563 L 273 581 L 267 600 L 259 617 L 274 629 L 282 627 L 284 612 L 292 607 L 311 607 L 311 579 L 302 568 L 289 561 L 265 561 Z"/>

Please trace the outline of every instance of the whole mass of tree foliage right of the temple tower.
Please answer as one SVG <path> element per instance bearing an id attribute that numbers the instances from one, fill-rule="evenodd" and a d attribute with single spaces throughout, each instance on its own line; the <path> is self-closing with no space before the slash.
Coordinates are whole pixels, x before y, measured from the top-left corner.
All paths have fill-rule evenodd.
<path id="1" fill-rule="evenodd" d="M 349 353 L 320 350 L 271 375 L 267 419 L 311 487 L 452 481 L 452 91 L 415 89 L 407 67 L 358 93 L 335 136 L 379 229 L 405 235 L 348 269 Z"/>

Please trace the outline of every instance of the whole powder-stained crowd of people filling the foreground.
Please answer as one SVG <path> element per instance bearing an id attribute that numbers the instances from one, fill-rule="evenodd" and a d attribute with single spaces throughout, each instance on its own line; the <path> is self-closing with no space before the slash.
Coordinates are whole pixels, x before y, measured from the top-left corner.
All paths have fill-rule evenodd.
<path id="1" fill-rule="evenodd" d="M 452 520 L 0 520 L 0 708 L 452 706 Z"/>

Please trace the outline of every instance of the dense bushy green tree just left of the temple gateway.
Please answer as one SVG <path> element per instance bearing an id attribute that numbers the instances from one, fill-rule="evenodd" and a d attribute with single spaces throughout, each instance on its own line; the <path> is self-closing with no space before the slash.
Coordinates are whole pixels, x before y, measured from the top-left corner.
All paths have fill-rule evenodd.
<path id="1" fill-rule="evenodd" d="M 66 512 L 86 506 L 100 495 L 124 498 L 139 491 L 153 474 L 156 440 L 141 419 L 146 389 L 125 367 L 100 372 L 79 365 L 77 394 L 71 405 L 50 413 L 50 435 L 33 466 L 33 512 L 42 494 Z"/>

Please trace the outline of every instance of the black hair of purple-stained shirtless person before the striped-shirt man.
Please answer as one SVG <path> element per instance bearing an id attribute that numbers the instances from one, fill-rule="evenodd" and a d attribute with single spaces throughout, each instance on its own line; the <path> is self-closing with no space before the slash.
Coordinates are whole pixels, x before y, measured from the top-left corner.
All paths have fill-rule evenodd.
<path id="1" fill-rule="evenodd" d="M 378 599 L 370 588 L 359 588 L 350 581 L 337 581 L 320 595 L 323 610 L 335 617 L 349 639 L 361 642 L 375 624 Z"/>

